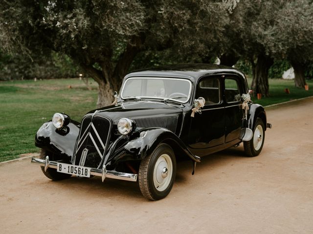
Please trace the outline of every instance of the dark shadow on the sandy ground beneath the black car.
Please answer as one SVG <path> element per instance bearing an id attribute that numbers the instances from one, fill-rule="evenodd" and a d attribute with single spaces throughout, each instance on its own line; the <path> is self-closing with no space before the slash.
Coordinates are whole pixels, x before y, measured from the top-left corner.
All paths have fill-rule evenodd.
<path id="1" fill-rule="evenodd" d="M 242 149 L 241 149 L 242 148 Z M 232 163 L 236 160 L 245 160 L 245 152 L 243 147 L 230 148 L 209 156 L 201 157 L 201 162 L 197 163 L 196 175 L 197 181 L 201 183 L 201 178 L 206 175 L 207 171 L 214 170 L 214 168 L 219 168 L 225 164 Z M 177 163 L 177 175 L 175 186 L 179 190 L 187 189 L 188 181 L 192 179 L 193 163 L 191 161 L 181 161 Z M 107 198 L 126 198 L 128 199 L 142 199 L 138 182 L 130 182 L 118 179 L 106 178 L 102 182 L 99 176 L 94 176 L 91 178 L 79 178 L 76 176 L 71 176 L 69 179 L 60 181 L 45 180 L 45 183 L 53 183 L 55 186 L 48 186 L 51 189 L 53 187 L 59 187 L 62 190 L 67 191 L 67 193 L 75 193 L 76 195 L 81 195 L 84 199 L 86 193 L 89 196 L 93 196 L 95 199 L 98 197 Z M 51 185 L 51 184 L 50 184 Z"/>

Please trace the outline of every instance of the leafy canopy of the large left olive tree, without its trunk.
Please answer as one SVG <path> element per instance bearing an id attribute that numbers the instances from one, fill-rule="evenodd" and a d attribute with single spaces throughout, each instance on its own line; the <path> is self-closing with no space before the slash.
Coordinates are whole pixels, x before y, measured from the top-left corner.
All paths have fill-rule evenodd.
<path id="1" fill-rule="evenodd" d="M 118 63 L 128 45 L 140 51 L 176 45 L 176 54 L 192 48 L 203 55 L 217 48 L 228 20 L 224 14 L 233 2 L 5 0 L 0 39 L 8 50 L 29 54 L 50 49 L 88 66 L 98 63 L 101 69 Z"/>

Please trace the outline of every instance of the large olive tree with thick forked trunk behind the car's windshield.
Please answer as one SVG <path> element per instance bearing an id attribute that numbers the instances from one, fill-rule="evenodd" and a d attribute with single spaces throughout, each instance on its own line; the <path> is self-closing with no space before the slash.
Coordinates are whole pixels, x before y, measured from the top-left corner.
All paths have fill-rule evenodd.
<path id="1" fill-rule="evenodd" d="M 168 49 L 177 40 L 192 44 L 188 35 L 182 35 L 188 28 L 201 28 L 200 15 L 215 14 L 209 3 L 223 4 L 216 0 L 3 0 L 0 41 L 8 51 L 29 56 L 51 50 L 66 54 L 99 84 L 100 107 L 111 103 L 112 91 L 119 89 L 139 52 Z"/>

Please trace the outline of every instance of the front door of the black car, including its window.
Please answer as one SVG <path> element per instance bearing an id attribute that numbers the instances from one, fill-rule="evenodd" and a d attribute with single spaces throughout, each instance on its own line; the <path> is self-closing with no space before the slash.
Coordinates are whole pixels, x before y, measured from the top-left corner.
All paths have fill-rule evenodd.
<path id="1" fill-rule="evenodd" d="M 191 118 L 190 150 L 199 156 L 208 154 L 208 148 L 224 144 L 224 101 L 221 92 L 222 76 L 207 76 L 199 80 L 196 98 L 203 97 L 201 114 Z"/>

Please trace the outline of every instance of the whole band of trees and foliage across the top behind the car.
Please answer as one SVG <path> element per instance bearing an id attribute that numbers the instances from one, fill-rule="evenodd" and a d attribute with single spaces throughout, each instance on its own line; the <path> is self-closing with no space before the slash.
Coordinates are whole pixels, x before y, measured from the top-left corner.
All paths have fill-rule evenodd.
<path id="1" fill-rule="evenodd" d="M 297 59 L 306 65 L 313 60 L 312 4 L 311 0 L 3 0 L 0 43 L 13 54 L 9 58 L 13 62 L 3 65 L 7 58 L 1 58 L 0 69 L 5 76 L 12 74 L 11 79 L 59 73 L 68 77 L 77 70 L 70 65 L 71 58 L 103 91 L 117 90 L 130 68 L 210 62 L 221 55 L 254 61 L 253 68 L 262 66 L 256 58 Z M 269 76 L 276 77 L 281 65 L 274 64 Z M 238 66 L 250 73 L 249 66 Z M 110 102 L 102 96 L 111 91 L 99 92 L 99 105 Z"/>

